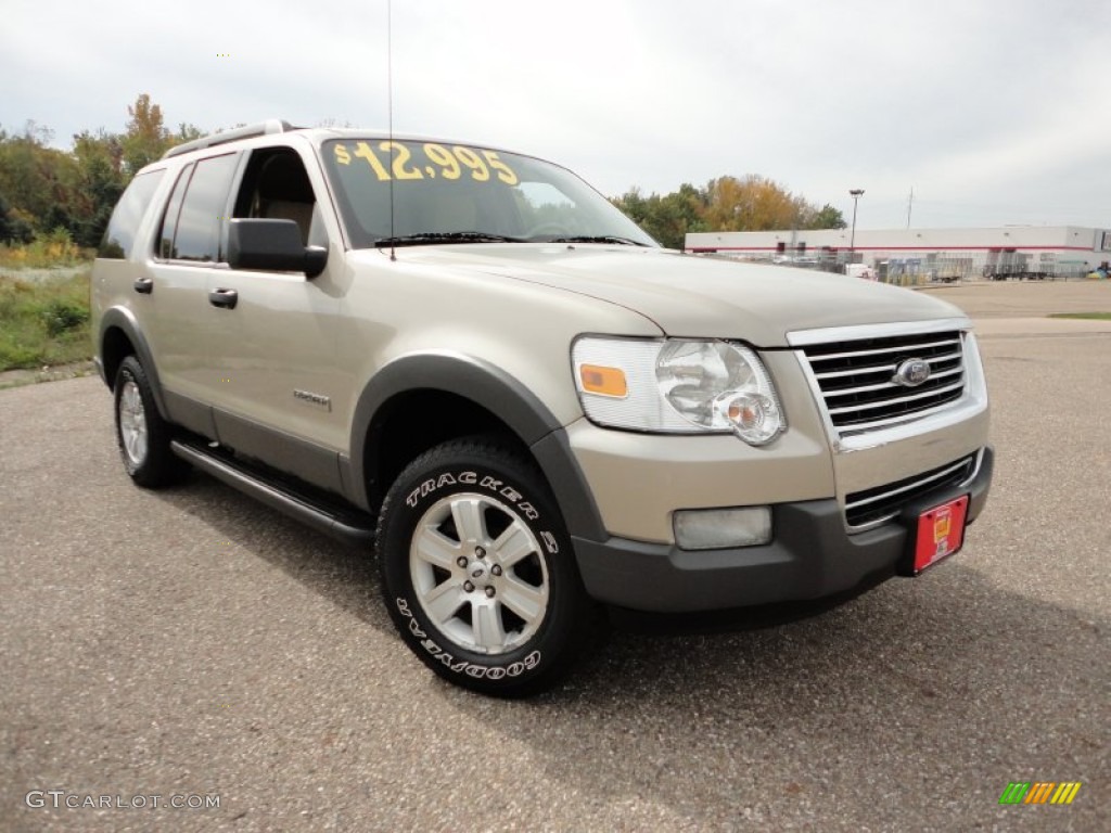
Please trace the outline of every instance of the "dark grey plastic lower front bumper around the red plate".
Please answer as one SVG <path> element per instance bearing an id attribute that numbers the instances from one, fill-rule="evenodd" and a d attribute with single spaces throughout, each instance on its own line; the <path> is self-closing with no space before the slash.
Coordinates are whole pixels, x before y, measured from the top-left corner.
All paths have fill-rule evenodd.
<path id="1" fill-rule="evenodd" d="M 971 523 L 987 503 L 992 462 L 987 446 L 971 482 L 938 490 L 929 501 L 940 504 L 969 494 Z M 660 613 L 833 595 L 877 574 L 893 574 L 908 546 L 909 530 L 900 521 L 849 534 L 835 499 L 774 504 L 772 529 L 775 538 L 767 546 L 734 550 L 689 552 L 621 538 L 575 538 L 573 543 L 592 598 Z"/>

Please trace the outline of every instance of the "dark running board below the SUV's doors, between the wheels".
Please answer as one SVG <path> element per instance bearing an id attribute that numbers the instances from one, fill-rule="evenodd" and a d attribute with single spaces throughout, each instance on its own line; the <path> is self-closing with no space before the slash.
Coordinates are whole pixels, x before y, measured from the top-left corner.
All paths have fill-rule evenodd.
<path id="1" fill-rule="evenodd" d="M 170 450 L 190 465 L 319 532 L 362 549 L 374 540 L 373 515 L 341 506 L 338 500 L 332 502 L 322 495 L 311 494 L 311 486 L 294 489 L 278 478 L 267 476 L 266 473 L 200 442 L 173 440 L 170 442 Z"/>

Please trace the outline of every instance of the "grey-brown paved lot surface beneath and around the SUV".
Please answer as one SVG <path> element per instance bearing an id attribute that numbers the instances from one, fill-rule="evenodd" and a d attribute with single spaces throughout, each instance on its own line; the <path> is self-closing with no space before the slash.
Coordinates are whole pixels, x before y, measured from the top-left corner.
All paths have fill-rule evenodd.
<path id="1" fill-rule="evenodd" d="M 787 624 L 615 631 L 524 703 L 427 673 L 361 554 L 207 478 L 132 488 L 98 380 L 2 391 L 0 830 L 1109 830 L 1111 332 L 981 344 L 961 555 Z M 1083 786 L 999 806 L 1020 780 Z"/>

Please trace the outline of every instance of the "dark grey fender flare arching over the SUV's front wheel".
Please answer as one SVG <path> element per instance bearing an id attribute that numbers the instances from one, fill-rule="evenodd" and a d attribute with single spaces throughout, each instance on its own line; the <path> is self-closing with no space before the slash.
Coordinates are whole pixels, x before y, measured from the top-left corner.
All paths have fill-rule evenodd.
<path id="1" fill-rule="evenodd" d="M 529 448 L 540 465 L 568 532 L 591 541 L 607 539 L 593 494 L 574 459 L 563 425 L 520 380 L 490 362 L 460 353 L 404 355 L 387 364 L 370 380 L 356 404 L 350 458 L 342 463 L 348 469 L 343 480 L 354 503 L 370 509 L 364 461 L 373 461 L 377 454 L 368 444 L 381 409 L 392 398 L 418 390 L 451 393 L 497 415 Z M 369 468 L 373 470 L 374 464 Z"/>

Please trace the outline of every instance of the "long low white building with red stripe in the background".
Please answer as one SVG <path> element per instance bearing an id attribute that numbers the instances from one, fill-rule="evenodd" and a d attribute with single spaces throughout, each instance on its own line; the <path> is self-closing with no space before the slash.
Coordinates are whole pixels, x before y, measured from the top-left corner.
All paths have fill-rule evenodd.
<path id="1" fill-rule="evenodd" d="M 1111 260 L 1111 230 L 1075 225 L 1001 229 L 721 231 L 687 235 L 685 251 L 828 271 L 864 263 L 880 280 L 1073 278 Z"/>

